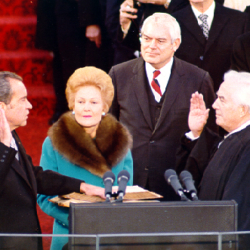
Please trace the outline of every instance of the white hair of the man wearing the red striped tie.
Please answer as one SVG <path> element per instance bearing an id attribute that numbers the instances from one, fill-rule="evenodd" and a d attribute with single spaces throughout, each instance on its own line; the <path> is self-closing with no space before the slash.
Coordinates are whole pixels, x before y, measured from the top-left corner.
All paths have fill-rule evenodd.
<path id="1" fill-rule="evenodd" d="M 154 13 L 153 15 L 147 17 L 143 22 L 141 28 L 141 34 L 145 29 L 145 26 L 149 23 L 156 23 L 162 26 L 165 26 L 169 30 L 169 35 L 171 37 L 172 44 L 176 39 L 180 39 L 181 42 L 181 28 L 179 23 L 174 17 L 166 13 Z"/>

